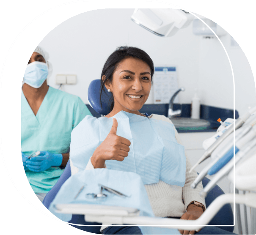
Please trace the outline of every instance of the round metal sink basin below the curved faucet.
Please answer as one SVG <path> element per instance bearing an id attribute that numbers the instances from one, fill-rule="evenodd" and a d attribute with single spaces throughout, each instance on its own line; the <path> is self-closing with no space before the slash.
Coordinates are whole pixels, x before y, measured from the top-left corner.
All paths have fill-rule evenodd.
<path id="1" fill-rule="evenodd" d="M 204 119 L 191 119 L 190 117 L 173 117 L 170 119 L 179 130 L 205 130 L 211 123 Z"/>

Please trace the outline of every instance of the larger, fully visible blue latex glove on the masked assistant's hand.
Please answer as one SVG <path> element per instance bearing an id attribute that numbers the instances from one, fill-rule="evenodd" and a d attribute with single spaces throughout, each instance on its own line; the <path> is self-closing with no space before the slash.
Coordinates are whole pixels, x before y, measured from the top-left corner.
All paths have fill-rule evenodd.
<path id="1" fill-rule="evenodd" d="M 33 172 L 41 172 L 50 167 L 59 167 L 62 163 L 62 154 L 53 154 L 48 151 L 41 151 L 37 157 L 26 161 L 26 167 Z"/>

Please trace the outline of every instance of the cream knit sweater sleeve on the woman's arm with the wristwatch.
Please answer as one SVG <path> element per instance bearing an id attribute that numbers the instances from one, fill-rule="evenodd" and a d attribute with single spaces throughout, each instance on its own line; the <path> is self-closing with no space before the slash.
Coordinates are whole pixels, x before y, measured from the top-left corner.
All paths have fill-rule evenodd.
<path id="1" fill-rule="evenodd" d="M 154 118 L 154 119 L 157 119 L 157 120 L 163 120 L 163 121 L 172 123 L 169 118 L 167 118 L 165 116 L 162 116 L 162 115 L 152 115 L 151 117 Z M 182 142 L 179 138 L 179 134 L 178 134 L 176 128 L 174 126 L 173 126 L 173 128 L 174 128 L 174 131 L 175 131 L 175 138 L 176 138 L 177 142 L 180 145 L 182 145 Z M 182 189 L 182 199 L 183 199 L 183 202 L 184 202 L 184 205 L 185 205 L 185 209 L 187 208 L 187 206 L 192 201 L 200 202 L 206 208 L 204 197 L 201 197 L 199 195 L 200 191 L 203 190 L 202 182 L 200 182 L 195 189 L 192 189 L 190 187 L 190 185 L 194 182 L 195 178 L 197 178 L 197 173 L 196 173 L 195 170 L 193 170 L 192 172 L 189 173 L 190 169 L 192 168 L 192 165 L 191 165 L 191 163 L 190 163 L 190 161 L 187 157 L 186 151 L 185 151 L 185 156 L 186 156 L 186 181 L 185 181 L 184 187 Z"/>

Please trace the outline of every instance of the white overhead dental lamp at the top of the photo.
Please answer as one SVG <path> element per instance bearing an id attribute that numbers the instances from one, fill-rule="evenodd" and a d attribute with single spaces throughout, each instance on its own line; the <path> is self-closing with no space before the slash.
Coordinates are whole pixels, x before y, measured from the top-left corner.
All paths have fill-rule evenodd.
<path id="1" fill-rule="evenodd" d="M 173 36 L 190 25 L 195 17 L 181 9 L 135 9 L 132 21 L 161 37 Z"/>

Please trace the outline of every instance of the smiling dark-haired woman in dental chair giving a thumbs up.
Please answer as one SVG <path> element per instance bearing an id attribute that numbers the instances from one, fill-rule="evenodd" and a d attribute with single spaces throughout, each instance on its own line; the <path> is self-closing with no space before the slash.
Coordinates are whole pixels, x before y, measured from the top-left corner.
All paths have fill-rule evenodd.
<path id="1" fill-rule="evenodd" d="M 119 47 L 108 57 L 101 75 L 113 95 L 105 117 L 87 116 L 73 130 L 72 175 L 79 171 L 107 168 L 140 175 L 155 216 L 198 219 L 205 210 L 204 197 L 190 185 L 197 177 L 171 120 L 140 113 L 149 97 L 154 64 L 149 55 L 135 47 Z M 142 234 L 139 227 L 102 227 L 102 234 Z M 201 231 L 179 230 L 181 234 L 233 234 L 217 227 Z"/>

